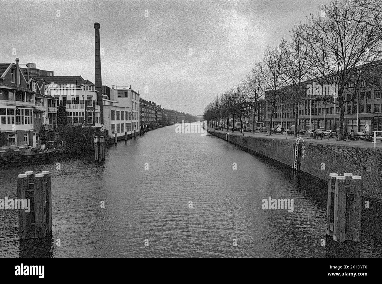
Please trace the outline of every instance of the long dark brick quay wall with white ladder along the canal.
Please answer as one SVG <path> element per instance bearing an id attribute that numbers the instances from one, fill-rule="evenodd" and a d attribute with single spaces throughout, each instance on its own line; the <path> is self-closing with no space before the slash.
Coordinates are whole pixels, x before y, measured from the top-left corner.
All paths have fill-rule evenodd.
<path id="1" fill-rule="evenodd" d="M 226 140 L 225 133 L 209 132 Z M 228 142 L 249 152 L 255 152 L 293 167 L 295 139 L 241 136 L 228 133 Z M 301 143 L 301 142 L 300 142 Z M 382 150 L 335 144 L 313 143 L 304 140 L 304 158 L 300 170 L 327 181 L 329 173 L 353 173 L 363 179 L 364 198 L 382 203 Z M 324 164 L 322 164 L 324 163 Z"/>

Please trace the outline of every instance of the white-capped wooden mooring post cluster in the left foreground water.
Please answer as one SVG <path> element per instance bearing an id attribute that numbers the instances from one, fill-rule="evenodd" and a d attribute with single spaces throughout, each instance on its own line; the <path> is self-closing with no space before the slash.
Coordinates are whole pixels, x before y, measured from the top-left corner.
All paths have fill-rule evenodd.
<path id="1" fill-rule="evenodd" d="M 30 199 L 30 211 L 19 209 L 20 239 L 37 239 L 52 234 L 52 177 L 49 171 L 18 175 L 17 198 Z"/>

